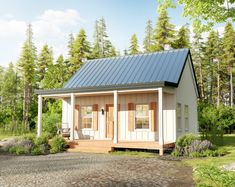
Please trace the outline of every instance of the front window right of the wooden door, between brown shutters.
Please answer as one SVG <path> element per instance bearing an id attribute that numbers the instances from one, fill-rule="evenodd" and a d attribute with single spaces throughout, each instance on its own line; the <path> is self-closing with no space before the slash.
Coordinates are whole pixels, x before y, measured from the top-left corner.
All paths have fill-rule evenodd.
<path id="1" fill-rule="evenodd" d="M 135 106 L 135 128 L 148 129 L 149 128 L 149 105 Z"/>

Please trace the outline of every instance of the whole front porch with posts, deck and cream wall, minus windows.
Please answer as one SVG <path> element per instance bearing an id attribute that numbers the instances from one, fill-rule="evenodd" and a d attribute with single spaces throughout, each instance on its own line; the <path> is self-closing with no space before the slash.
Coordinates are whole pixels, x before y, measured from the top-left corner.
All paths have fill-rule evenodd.
<path id="1" fill-rule="evenodd" d="M 134 97 L 126 97 L 127 94 L 131 94 Z M 143 98 L 139 98 L 137 96 L 138 94 L 143 95 Z M 151 97 L 147 96 L 148 94 L 152 94 Z M 171 95 L 170 100 L 167 99 L 167 95 Z M 71 129 L 70 145 L 72 147 L 69 151 L 72 152 L 109 152 L 115 148 L 125 148 L 159 150 L 159 153 L 163 154 L 164 148 L 172 144 L 175 139 L 173 133 L 174 89 L 164 88 L 163 90 L 163 88 L 155 88 L 39 95 L 38 136 L 40 136 L 42 129 L 42 97 L 67 100 L 67 127 Z M 104 99 L 104 97 L 106 99 Z M 132 100 L 133 98 L 134 100 Z M 164 104 L 164 98 L 167 104 Z M 152 113 L 149 111 L 150 114 L 154 114 L 154 117 L 150 115 L 149 129 L 135 129 L 134 126 L 129 125 L 130 122 L 133 123 L 135 120 L 134 108 L 131 107 L 131 109 L 129 109 L 130 103 L 127 101 L 129 100 L 131 104 L 133 104 L 135 101 L 145 102 L 150 101 L 149 99 L 151 102 L 155 101 L 157 103 L 156 112 Z M 103 101 L 101 102 L 100 100 Z M 170 109 L 167 108 L 170 106 L 169 103 L 171 105 Z M 92 106 L 91 104 L 96 106 L 92 112 L 92 129 L 81 129 L 78 122 L 80 107 L 77 108 L 77 106 Z M 99 108 L 97 106 L 99 106 Z M 111 107 L 112 110 L 107 107 Z M 108 112 L 110 112 L 110 114 Z M 171 115 L 170 119 L 164 120 L 169 114 Z M 129 117 L 127 118 L 127 116 Z M 126 125 L 125 127 L 124 124 Z M 157 124 L 157 127 L 154 124 Z M 108 128 L 110 125 L 111 131 Z M 85 139 L 83 139 L 83 137 Z"/>

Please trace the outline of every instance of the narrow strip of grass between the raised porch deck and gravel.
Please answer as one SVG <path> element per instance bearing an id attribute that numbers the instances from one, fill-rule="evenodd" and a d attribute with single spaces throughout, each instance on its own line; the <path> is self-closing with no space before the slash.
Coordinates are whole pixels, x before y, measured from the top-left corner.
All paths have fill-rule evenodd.
<path id="1" fill-rule="evenodd" d="M 114 151 L 110 153 L 111 155 L 124 155 L 124 156 L 135 156 L 140 158 L 152 158 L 156 157 L 156 153 L 149 153 L 143 151 Z"/>

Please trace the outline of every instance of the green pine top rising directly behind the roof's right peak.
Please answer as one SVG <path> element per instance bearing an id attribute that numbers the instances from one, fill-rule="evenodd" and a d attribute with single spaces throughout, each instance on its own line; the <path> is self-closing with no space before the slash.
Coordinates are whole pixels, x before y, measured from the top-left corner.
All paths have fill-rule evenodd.
<path id="1" fill-rule="evenodd" d="M 174 49 L 189 48 L 190 47 L 189 34 L 190 34 L 189 29 L 186 26 L 182 26 L 177 33 L 176 39 L 172 47 Z"/>

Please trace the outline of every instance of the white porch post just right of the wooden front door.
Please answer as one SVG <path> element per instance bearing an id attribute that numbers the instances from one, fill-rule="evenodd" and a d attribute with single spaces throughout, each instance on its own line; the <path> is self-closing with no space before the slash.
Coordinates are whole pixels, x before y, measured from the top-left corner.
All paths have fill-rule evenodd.
<path id="1" fill-rule="evenodd" d="M 114 105 L 114 136 L 113 143 L 118 143 L 118 92 L 113 92 L 113 105 Z"/>

